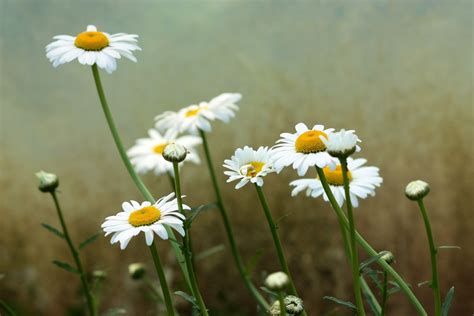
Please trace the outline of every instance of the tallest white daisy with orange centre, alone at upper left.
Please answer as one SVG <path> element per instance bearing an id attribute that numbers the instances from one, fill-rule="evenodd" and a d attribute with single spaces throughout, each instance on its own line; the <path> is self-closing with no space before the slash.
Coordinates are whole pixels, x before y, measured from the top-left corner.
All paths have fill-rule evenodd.
<path id="1" fill-rule="evenodd" d="M 85 32 L 77 36 L 57 35 L 54 42 L 46 46 L 46 57 L 57 67 L 77 58 L 83 65 L 97 64 L 108 73 L 117 69 L 116 59 L 124 56 L 136 62 L 133 51 L 141 50 L 137 45 L 138 35 L 117 33 L 110 35 L 98 32 L 94 25 L 88 25 Z"/>

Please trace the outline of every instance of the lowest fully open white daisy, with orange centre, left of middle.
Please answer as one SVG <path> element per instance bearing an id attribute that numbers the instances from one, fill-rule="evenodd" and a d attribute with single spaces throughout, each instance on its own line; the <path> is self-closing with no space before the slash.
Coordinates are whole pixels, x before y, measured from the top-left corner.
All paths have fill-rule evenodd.
<path id="1" fill-rule="evenodd" d="M 181 236 L 184 236 L 183 221 L 185 216 L 178 211 L 178 201 L 171 193 L 155 204 L 143 202 L 141 205 L 136 201 L 124 202 L 122 204 L 123 212 L 117 215 L 109 216 L 102 224 L 105 236 L 110 234 L 111 244 L 120 242 L 120 249 L 125 249 L 132 239 L 140 232 L 145 233 L 146 244 L 150 246 L 153 243 L 153 233 L 161 239 L 168 239 L 168 233 L 164 225 L 176 230 Z M 183 205 L 183 209 L 189 210 L 189 206 Z"/>

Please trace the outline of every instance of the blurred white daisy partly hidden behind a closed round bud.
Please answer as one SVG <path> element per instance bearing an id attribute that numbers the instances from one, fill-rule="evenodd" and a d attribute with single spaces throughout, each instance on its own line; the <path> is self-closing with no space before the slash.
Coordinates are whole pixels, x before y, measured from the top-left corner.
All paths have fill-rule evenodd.
<path id="1" fill-rule="evenodd" d="M 156 175 L 167 172 L 173 175 L 173 164 L 163 158 L 163 150 L 170 143 L 177 143 L 186 147 L 188 154 L 184 161 L 200 163 L 199 156 L 194 148 L 201 144 L 200 137 L 191 135 L 177 137 L 176 131 L 173 130 L 161 135 L 155 129 L 148 130 L 148 135 L 150 137 L 138 139 L 135 145 L 127 151 L 130 162 L 138 173 L 154 171 Z"/>

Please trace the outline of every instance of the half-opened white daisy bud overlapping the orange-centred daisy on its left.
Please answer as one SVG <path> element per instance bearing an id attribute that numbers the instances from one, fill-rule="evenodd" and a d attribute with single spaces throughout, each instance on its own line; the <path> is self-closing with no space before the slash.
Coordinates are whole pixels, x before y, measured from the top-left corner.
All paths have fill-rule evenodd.
<path id="1" fill-rule="evenodd" d="M 346 131 L 342 129 L 339 132 L 329 134 L 327 138 L 322 135 L 319 138 L 326 145 L 326 151 L 331 156 L 344 158 L 360 151 L 357 143 L 361 140 L 354 132 L 354 130 Z"/>

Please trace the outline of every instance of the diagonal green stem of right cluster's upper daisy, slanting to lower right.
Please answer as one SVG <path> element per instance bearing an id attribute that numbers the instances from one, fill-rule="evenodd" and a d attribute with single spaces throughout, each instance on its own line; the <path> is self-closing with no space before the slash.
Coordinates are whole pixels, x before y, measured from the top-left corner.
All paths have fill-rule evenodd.
<path id="1" fill-rule="evenodd" d="M 344 224 L 344 228 L 346 230 L 349 230 L 349 222 L 346 218 L 346 215 L 344 212 L 341 210 L 339 205 L 336 202 L 336 199 L 334 198 L 334 195 L 332 194 L 331 189 L 329 188 L 329 185 L 326 180 L 326 176 L 324 175 L 324 172 L 321 168 L 316 167 L 316 170 L 318 172 L 319 179 L 321 180 L 321 184 L 324 188 L 324 192 L 326 193 L 329 202 L 331 203 L 332 208 L 336 212 L 336 215 L 342 220 Z M 355 238 L 356 241 L 359 243 L 359 245 L 369 254 L 370 256 L 377 256 L 378 252 L 375 251 L 372 246 L 356 231 L 355 232 Z M 410 300 L 410 302 L 413 304 L 415 309 L 417 310 L 419 315 L 427 316 L 428 314 L 426 313 L 425 309 L 421 305 L 420 301 L 416 298 L 415 294 L 411 291 L 410 287 L 408 284 L 406 284 L 405 281 L 400 277 L 400 275 L 393 269 L 385 260 L 379 258 L 377 260 L 377 263 L 385 270 L 387 273 L 393 278 L 393 280 L 400 286 L 402 291 L 405 293 L 407 298 Z"/>

